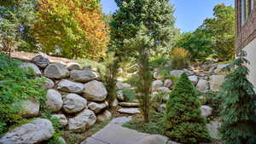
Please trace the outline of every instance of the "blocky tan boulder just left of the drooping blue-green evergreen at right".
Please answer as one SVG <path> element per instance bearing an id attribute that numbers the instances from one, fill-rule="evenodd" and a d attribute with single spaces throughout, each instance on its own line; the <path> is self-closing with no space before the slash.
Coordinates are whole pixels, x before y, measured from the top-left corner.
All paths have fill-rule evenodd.
<path id="1" fill-rule="evenodd" d="M 212 91 L 218 91 L 220 88 L 220 85 L 223 84 L 225 81 L 224 75 L 212 75 L 210 77 L 210 89 Z"/>

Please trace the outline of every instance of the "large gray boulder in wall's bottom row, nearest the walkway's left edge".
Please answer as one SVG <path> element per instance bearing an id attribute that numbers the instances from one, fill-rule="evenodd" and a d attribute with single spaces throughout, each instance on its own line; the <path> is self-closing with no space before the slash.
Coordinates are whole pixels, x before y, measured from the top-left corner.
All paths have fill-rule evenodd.
<path id="1" fill-rule="evenodd" d="M 96 123 L 96 115 L 89 109 L 79 112 L 74 118 L 68 119 L 67 129 L 74 132 L 83 132 Z"/>

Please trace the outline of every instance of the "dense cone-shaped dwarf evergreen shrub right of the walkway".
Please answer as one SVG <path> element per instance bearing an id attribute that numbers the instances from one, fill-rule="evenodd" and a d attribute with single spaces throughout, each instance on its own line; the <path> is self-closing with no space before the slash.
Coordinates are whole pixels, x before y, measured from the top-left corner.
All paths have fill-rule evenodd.
<path id="1" fill-rule="evenodd" d="M 201 116 L 201 102 L 186 73 L 178 79 L 166 103 L 165 133 L 173 141 L 185 144 L 209 141 L 206 118 Z"/>

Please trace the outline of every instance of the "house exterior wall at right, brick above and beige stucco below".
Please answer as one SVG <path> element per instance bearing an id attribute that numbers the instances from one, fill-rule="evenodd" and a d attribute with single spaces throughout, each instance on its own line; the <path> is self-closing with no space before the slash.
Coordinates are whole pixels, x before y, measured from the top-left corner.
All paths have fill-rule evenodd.
<path id="1" fill-rule="evenodd" d="M 241 0 L 236 0 L 236 49 L 247 51 L 250 70 L 249 80 L 256 89 L 256 3 L 247 21 L 242 25 Z"/>

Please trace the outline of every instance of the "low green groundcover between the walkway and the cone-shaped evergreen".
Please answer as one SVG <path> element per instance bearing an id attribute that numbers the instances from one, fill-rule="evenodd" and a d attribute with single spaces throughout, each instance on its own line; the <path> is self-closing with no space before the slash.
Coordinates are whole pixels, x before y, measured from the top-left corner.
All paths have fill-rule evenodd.
<path id="1" fill-rule="evenodd" d="M 163 126 L 164 114 L 153 112 L 148 123 L 142 123 L 141 118 L 133 117 L 131 121 L 123 124 L 124 127 L 137 130 L 139 132 L 148 133 L 152 135 L 164 135 L 165 128 Z"/>

